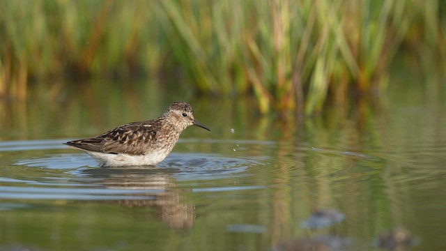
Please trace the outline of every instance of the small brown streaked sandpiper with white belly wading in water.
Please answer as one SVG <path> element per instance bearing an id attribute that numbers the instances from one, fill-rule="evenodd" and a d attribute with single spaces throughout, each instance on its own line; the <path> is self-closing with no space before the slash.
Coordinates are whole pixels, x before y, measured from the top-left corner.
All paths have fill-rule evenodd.
<path id="1" fill-rule="evenodd" d="M 181 132 L 192 125 L 210 131 L 194 119 L 189 104 L 174 102 L 157 119 L 128 123 L 100 136 L 65 144 L 86 151 L 101 167 L 156 165 L 174 149 Z"/>

